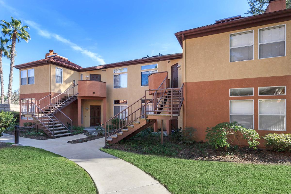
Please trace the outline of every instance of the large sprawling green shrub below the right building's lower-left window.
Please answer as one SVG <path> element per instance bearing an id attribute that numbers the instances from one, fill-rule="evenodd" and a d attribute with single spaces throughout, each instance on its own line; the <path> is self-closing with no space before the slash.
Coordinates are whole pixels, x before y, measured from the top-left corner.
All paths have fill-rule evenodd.
<path id="1" fill-rule="evenodd" d="M 257 149 L 259 145 L 258 140 L 260 139 L 259 134 L 253 129 L 246 129 L 237 122 L 223 122 L 217 124 L 215 127 L 207 127 L 205 131 L 208 143 L 215 148 L 224 147 L 227 149 L 236 139 L 239 143 L 239 147 L 242 148 L 239 139 L 247 140 L 249 147 Z M 230 139 L 232 138 L 232 139 Z"/>

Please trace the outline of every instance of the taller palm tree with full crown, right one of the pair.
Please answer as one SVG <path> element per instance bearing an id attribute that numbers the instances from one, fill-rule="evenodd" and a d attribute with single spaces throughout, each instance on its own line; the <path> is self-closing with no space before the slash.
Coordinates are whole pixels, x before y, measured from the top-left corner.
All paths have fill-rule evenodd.
<path id="1" fill-rule="evenodd" d="M 9 83 L 8 83 L 8 104 L 11 103 L 11 94 L 12 94 L 12 81 L 13 81 L 13 66 L 14 66 L 14 57 L 15 57 L 15 44 L 16 41 L 20 42 L 20 40 L 25 40 L 28 42 L 30 39 L 29 33 L 26 31 L 26 29 L 29 29 L 28 26 L 22 26 L 22 22 L 18 19 L 14 19 L 11 17 L 11 22 L 6 22 L 5 20 L 1 20 L 3 24 L 0 24 L 2 26 L 1 32 L 3 35 L 10 36 L 11 40 L 11 56 L 10 56 L 10 73 L 9 73 Z"/>

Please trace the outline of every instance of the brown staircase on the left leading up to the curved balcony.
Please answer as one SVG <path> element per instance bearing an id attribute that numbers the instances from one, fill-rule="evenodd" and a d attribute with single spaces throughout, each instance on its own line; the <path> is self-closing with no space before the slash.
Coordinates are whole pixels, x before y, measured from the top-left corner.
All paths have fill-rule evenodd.
<path id="1" fill-rule="evenodd" d="M 72 120 L 61 108 L 77 99 L 77 85 L 51 99 L 21 99 L 22 116 L 31 117 L 50 138 L 72 135 Z"/>

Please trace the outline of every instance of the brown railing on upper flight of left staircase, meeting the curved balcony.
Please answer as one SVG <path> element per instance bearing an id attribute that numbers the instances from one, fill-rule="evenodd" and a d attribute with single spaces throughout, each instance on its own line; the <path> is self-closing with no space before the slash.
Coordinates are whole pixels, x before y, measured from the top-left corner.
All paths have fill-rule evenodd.
<path id="1" fill-rule="evenodd" d="M 72 88 L 69 88 L 68 90 L 62 92 L 61 94 L 53 97 L 51 99 L 52 104 L 56 104 L 56 107 L 60 107 L 62 104 L 67 102 L 69 99 L 71 99 L 74 96 L 78 95 L 78 84 L 73 86 Z M 52 111 L 52 107 L 51 107 Z"/>

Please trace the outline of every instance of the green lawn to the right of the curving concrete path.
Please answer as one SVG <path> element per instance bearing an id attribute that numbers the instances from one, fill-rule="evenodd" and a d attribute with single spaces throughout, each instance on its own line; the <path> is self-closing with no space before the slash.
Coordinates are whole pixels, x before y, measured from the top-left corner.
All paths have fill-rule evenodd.
<path id="1" fill-rule="evenodd" d="M 147 172 L 171 193 L 291 193 L 290 165 L 176 159 L 101 149 Z"/>

